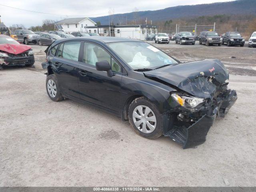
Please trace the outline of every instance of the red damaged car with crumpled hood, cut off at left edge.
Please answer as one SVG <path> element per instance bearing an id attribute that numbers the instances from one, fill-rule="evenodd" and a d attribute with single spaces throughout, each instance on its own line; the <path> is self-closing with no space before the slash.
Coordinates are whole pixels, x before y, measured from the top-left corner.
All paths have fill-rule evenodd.
<path id="1" fill-rule="evenodd" d="M 20 44 L 10 36 L 0 35 L 0 70 L 3 66 L 32 66 L 34 62 L 30 46 Z"/>

